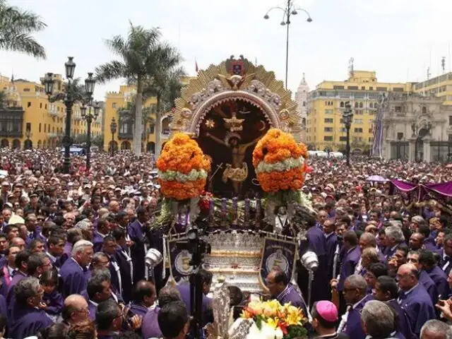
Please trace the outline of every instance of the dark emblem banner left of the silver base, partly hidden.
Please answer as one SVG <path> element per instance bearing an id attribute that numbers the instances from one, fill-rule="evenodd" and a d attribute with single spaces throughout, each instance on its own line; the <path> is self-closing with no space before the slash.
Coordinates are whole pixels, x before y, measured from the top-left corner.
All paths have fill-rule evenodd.
<path id="1" fill-rule="evenodd" d="M 191 254 L 181 243 L 188 242 L 186 237 L 168 240 L 169 274 L 179 284 L 189 280 L 193 267 L 190 266 Z M 179 243 L 179 244 L 178 244 Z"/>

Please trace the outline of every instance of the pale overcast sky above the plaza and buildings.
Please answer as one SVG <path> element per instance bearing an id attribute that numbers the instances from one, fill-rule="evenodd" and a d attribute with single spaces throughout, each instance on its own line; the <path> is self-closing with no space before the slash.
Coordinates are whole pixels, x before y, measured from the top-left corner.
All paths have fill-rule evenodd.
<path id="1" fill-rule="evenodd" d="M 179 47 L 187 73 L 219 64 L 234 54 L 257 59 L 285 77 L 285 28 L 281 12 L 263 15 L 278 0 L 7 0 L 34 11 L 48 27 L 37 34 L 47 59 L 0 51 L 0 73 L 39 81 L 45 72 L 64 73 L 68 56 L 76 76 L 114 59 L 105 39 L 126 35 L 129 20 L 160 27 L 163 39 Z M 379 81 L 422 81 L 451 70 L 451 0 L 298 0 L 313 21 L 299 13 L 290 25 L 289 88 L 295 92 L 302 73 L 311 88 L 323 80 L 345 80 L 350 57 L 355 69 L 374 70 Z M 97 85 L 95 97 L 118 90 L 122 81 Z"/>

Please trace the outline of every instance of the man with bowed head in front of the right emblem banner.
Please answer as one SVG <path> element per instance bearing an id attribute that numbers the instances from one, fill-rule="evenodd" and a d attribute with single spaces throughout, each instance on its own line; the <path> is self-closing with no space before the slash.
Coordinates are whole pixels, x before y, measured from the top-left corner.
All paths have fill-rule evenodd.
<path id="1" fill-rule="evenodd" d="M 302 308 L 304 314 L 307 314 L 307 304 L 295 287 L 289 283 L 289 278 L 283 270 L 274 269 L 268 273 L 266 283 L 270 295 L 277 299 L 280 304 L 284 305 L 290 302 L 292 306 Z"/>

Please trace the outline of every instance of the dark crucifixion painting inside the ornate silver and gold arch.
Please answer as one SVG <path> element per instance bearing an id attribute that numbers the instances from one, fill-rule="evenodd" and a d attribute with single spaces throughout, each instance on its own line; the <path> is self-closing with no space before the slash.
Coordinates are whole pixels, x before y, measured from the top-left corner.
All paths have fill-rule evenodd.
<path id="1" fill-rule="evenodd" d="M 198 144 L 213 160 L 206 189 L 226 198 L 261 192 L 252 155 L 268 129 L 261 109 L 244 100 L 232 99 L 210 109 L 198 137 Z"/>

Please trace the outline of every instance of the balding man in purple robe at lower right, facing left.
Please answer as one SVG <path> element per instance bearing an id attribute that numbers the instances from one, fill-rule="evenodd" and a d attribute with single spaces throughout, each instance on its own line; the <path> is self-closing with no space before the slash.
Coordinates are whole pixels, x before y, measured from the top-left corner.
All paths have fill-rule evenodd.
<path id="1" fill-rule="evenodd" d="M 436 318 L 432 299 L 420 284 L 419 275 L 419 270 L 412 263 L 403 264 L 397 271 L 398 287 L 402 291 L 398 303 L 407 312 L 411 331 L 417 338 L 422 325 Z"/>

